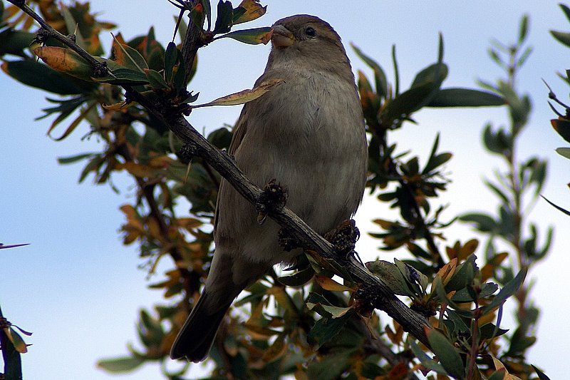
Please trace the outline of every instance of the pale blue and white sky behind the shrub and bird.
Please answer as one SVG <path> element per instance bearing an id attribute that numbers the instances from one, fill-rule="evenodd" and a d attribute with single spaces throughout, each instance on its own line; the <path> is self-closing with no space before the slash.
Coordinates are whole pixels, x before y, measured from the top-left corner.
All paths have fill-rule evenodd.
<path id="1" fill-rule="evenodd" d="M 437 35 L 445 41 L 444 61 L 450 74 L 444 87 L 475 87 L 477 79 L 494 81 L 503 73 L 487 56 L 489 41 L 512 43 L 517 38 L 522 14 L 529 14 L 529 44 L 534 50 L 519 75 L 520 91 L 529 93 L 534 112 L 521 138 L 519 157 L 539 155 L 549 160 L 549 177 L 542 194 L 570 207 L 569 161 L 554 152 L 565 146 L 552 130 L 553 118 L 546 103 L 542 79 L 563 98 L 567 86 L 556 76 L 564 71 L 570 49 L 549 35 L 550 29 L 569 31 L 557 1 L 261 1 L 267 14 L 247 27 L 268 26 L 292 14 L 314 14 L 331 24 L 343 38 L 353 69 L 371 72 L 348 48 L 352 42 L 375 58 L 393 81 L 390 51 L 396 45 L 401 87 L 407 88 L 415 73 L 435 62 Z M 6 4 L 6 2 L 4 1 Z M 237 5 L 237 1 L 235 1 Z M 126 39 L 145 34 L 152 23 L 157 38 L 166 45 L 174 28 L 176 9 L 167 1 L 92 0 L 100 19 L 120 25 Z M 342 7 L 341 7 L 342 4 Z M 111 36 L 103 36 L 109 46 Z M 227 39 L 215 41 L 199 53 L 199 68 L 192 90 L 199 101 L 251 88 L 261 75 L 269 46 L 249 46 Z M 83 129 L 63 142 L 46 137 L 51 120 L 35 121 L 48 106 L 45 93 L 27 88 L 0 73 L 0 242 L 30 243 L 27 247 L 0 251 L 0 306 L 4 316 L 34 332 L 23 356 L 25 379 L 160 379 L 155 365 L 133 374 L 112 376 L 95 368 L 101 358 L 123 356 L 128 342 L 137 346 L 135 320 L 141 307 L 152 307 L 160 292 L 146 289 L 148 283 L 136 246 L 121 244 L 120 205 L 133 201 L 133 184 L 116 176 L 119 195 L 107 185 L 95 186 L 89 179 L 78 185 L 81 165 L 61 166 L 56 158 L 100 148 L 95 139 L 81 139 Z M 209 108 L 192 113 L 190 123 L 198 130 L 212 130 L 234 123 L 240 107 Z M 507 125 L 504 108 L 474 108 L 420 111 L 418 125 L 407 124 L 393 139 L 401 151 L 413 150 L 426 158 L 440 133 L 440 150 L 452 151 L 447 164 L 452 183 L 441 198 L 449 203 L 443 217 L 451 219 L 470 210 L 496 210 L 497 202 L 482 184 L 482 178 L 501 167 L 497 158 L 482 148 L 486 123 Z M 568 144 L 566 144 L 568 146 Z M 502 167 L 501 167 L 502 168 Z M 366 232 L 378 232 L 369 220 L 390 217 L 388 207 L 365 199 L 357 214 L 363 237 L 357 250 L 363 260 L 376 257 L 393 260 L 401 252 L 377 250 L 378 240 Z M 544 262 L 529 273 L 532 299 L 541 309 L 537 343 L 528 361 L 551 379 L 564 378 L 566 362 L 553 353 L 566 352 L 570 296 L 562 291 L 567 282 L 570 218 L 544 201 L 537 202 L 530 219 L 544 236 L 547 225 L 556 228 L 554 243 Z M 475 237 L 470 227 L 456 223 L 446 232 L 447 242 Z M 441 246 L 441 245 L 440 245 Z M 478 252 L 482 255 L 481 248 Z M 159 275 L 150 278 L 158 282 Z M 387 317 L 383 317 L 386 321 Z M 511 319 L 512 320 L 512 319 Z M 508 327 L 509 318 L 505 320 Z M 169 368 L 176 364 L 169 363 Z M 203 369 L 192 369 L 192 374 Z"/>

